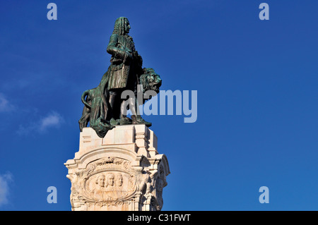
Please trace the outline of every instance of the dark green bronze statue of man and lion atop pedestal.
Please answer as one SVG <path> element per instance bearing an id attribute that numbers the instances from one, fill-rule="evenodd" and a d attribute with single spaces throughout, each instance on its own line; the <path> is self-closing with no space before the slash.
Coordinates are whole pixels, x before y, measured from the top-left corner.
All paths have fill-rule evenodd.
<path id="1" fill-rule="evenodd" d="M 107 52 L 112 55 L 110 67 L 102 76 L 100 85 L 91 90 L 86 90 L 82 95 L 85 105 L 81 119 L 78 121 L 80 130 L 88 126 L 93 128 L 100 138 L 105 137 L 108 130 L 114 126 L 125 124 L 145 124 L 138 113 L 139 104 L 136 95 L 147 90 L 158 94 L 162 80 L 152 68 L 142 68 L 143 59 L 134 46 L 134 41 L 128 35 L 130 30 L 129 20 L 119 17 L 115 21 L 114 31 L 107 46 Z M 141 90 L 137 88 L 140 85 Z M 122 92 L 131 90 L 134 97 L 122 99 Z M 131 110 L 131 118 L 126 116 L 126 111 Z"/>

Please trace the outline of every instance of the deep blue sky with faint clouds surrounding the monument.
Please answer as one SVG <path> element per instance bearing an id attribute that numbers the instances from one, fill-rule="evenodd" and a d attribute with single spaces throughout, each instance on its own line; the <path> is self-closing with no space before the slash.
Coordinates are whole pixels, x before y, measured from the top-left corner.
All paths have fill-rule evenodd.
<path id="1" fill-rule="evenodd" d="M 47 4 L 57 20 L 47 20 Z M 269 20 L 259 20 L 259 4 Z M 0 1 L 0 210 L 70 210 L 84 90 L 129 18 L 161 90 L 197 90 L 195 123 L 143 116 L 171 174 L 163 210 L 318 210 L 318 2 Z M 47 188 L 57 188 L 57 204 Z M 269 204 L 259 188 L 269 188 Z"/>

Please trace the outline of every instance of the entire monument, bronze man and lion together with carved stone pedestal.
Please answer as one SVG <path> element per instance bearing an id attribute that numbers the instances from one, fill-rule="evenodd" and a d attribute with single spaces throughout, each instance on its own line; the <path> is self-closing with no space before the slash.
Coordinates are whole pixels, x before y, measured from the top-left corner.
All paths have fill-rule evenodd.
<path id="1" fill-rule="evenodd" d="M 163 207 L 169 164 L 165 154 L 158 153 L 157 137 L 148 128 L 151 123 L 139 114 L 139 105 L 158 94 L 162 80 L 152 68 L 142 67 L 129 30 L 129 20 L 117 18 L 107 46 L 110 66 L 98 87 L 81 97 L 79 150 L 65 163 L 74 211 Z"/>

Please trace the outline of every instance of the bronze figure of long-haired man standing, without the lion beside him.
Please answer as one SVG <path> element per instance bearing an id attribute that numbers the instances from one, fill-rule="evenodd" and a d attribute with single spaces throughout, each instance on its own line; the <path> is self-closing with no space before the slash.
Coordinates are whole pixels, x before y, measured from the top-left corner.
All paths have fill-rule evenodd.
<path id="1" fill-rule="evenodd" d="M 109 68 L 110 77 L 108 78 L 110 107 L 112 108 L 110 124 L 143 123 L 146 126 L 151 126 L 151 123 L 144 121 L 138 114 L 139 104 L 136 102 L 136 97 L 134 99 L 120 99 L 124 90 L 134 91 L 137 95 L 137 85 L 141 74 L 143 74 L 143 59 L 136 51 L 132 37 L 128 35 L 129 30 L 129 20 L 125 17 L 117 18 L 114 32 L 112 32 L 110 43 L 107 46 L 107 52 L 112 55 Z M 132 121 L 126 117 L 126 104 L 124 103 L 126 100 L 129 101 L 130 110 L 133 114 L 131 116 Z"/>

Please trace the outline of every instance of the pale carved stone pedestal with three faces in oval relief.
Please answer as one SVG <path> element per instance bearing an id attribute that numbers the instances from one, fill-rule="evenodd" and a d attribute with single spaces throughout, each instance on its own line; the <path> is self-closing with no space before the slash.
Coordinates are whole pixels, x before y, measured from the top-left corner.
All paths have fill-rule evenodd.
<path id="1" fill-rule="evenodd" d="M 83 128 L 79 151 L 64 164 L 75 211 L 155 211 L 170 174 L 157 137 L 145 125 L 117 126 L 105 138 Z"/>

